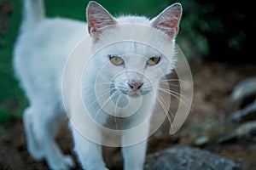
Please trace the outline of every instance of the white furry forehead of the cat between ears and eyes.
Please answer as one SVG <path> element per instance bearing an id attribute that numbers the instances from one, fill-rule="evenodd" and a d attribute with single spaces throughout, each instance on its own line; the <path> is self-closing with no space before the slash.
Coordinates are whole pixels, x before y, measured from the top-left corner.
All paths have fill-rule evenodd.
<path id="1" fill-rule="evenodd" d="M 159 49 L 163 54 L 172 55 L 174 39 L 151 26 L 123 24 L 102 31 L 99 41 L 93 44 L 93 51 L 107 46 L 113 46 L 109 50 L 113 49 L 121 54 L 150 54 Z"/>

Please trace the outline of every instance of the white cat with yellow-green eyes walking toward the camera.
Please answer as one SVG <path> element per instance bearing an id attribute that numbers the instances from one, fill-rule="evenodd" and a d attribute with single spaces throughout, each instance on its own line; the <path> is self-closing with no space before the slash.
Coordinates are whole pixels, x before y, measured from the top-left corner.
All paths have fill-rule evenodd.
<path id="1" fill-rule="evenodd" d="M 161 68 L 163 74 L 168 74 L 173 66 L 156 49 L 143 43 L 132 42 L 131 39 L 139 37 L 146 42 L 158 43 L 168 48 L 169 54 L 173 55 L 182 8 L 180 3 L 174 3 L 153 20 L 138 16 L 113 18 L 100 4 L 90 2 L 86 11 L 88 21 L 86 24 L 76 20 L 46 18 L 44 0 L 24 0 L 24 3 L 24 19 L 20 28 L 20 37 L 15 45 L 14 67 L 20 85 L 30 102 L 23 116 L 28 151 L 37 161 L 45 159 L 52 169 L 68 169 L 74 166 L 73 159 L 71 156 L 64 156 L 55 143 L 58 127 L 67 118 L 65 109 L 68 114 L 84 122 L 82 124 L 90 131 L 91 138 L 101 139 L 104 136 L 103 131 L 88 120 L 84 120 L 83 116 L 79 117 L 83 105 L 90 105 L 88 106 L 90 115 L 104 126 L 108 124 L 109 117 L 130 116 L 133 105 L 143 96 L 135 116 L 119 118 L 119 121 L 113 124 L 116 130 L 124 130 L 144 122 L 145 117 L 154 109 L 155 95 L 157 95 L 155 89 L 158 88 L 161 77 L 158 69 Z M 122 24 L 134 26 L 124 28 L 121 27 Z M 142 31 L 141 26 L 149 26 L 161 31 L 165 33 L 167 39 Z M 89 53 L 95 55 L 87 70 L 85 69 L 85 72 L 88 71 L 90 74 L 86 74 L 81 80 L 83 84 L 81 96 L 84 102 L 82 105 L 79 102 L 80 96 L 73 92 L 73 89 L 79 83 L 76 81 L 80 77 L 75 67 L 83 65 L 74 63 L 73 70 L 66 72 L 67 84 L 61 84 L 63 83 L 61 78 L 69 54 L 87 35 L 91 37 L 92 52 L 85 53 L 88 53 L 88 56 L 91 55 Z M 124 42 L 125 38 L 130 41 Z M 109 42 L 119 40 L 122 42 L 105 46 Z M 110 94 L 108 99 L 116 101 L 116 106 L 109 109 L 113 115 L 106 114 L 99 101 L 96 102 L 96 76 L 102 68 L 105 70 L 101 71 L 102 82 L 99 82 L 99 87 L 104 93 Z M 101 87 L 100 84 L 105 82 L 110 86 Z M 61 94 L 61 86 L 67 90 L 64 96 Z M 66 108 L 62 97 L 67 100 Z M 131 107 L 120 109 L 120 105 L 125 105 L 127 99 L 131 102 Z M 93 142 L 93 139 L 84 138 L 84 135 L 75 129 L 75 125 L 71 128 L 74 150 L 82 167 L 88 170 L 107 169 L 102 159 L 101 145 Z M 137 134 L 147 137 L 148 131 L 149 122 L 146 122 L 143 130 L 138 131 Z M 137 134 L 122 133 L 121 145 L 124 146 L 122 151 L 125 170 L 143 169 L 147 141 L 143 140 L 132 145 L 128 142 L 135 139 Z"/>

